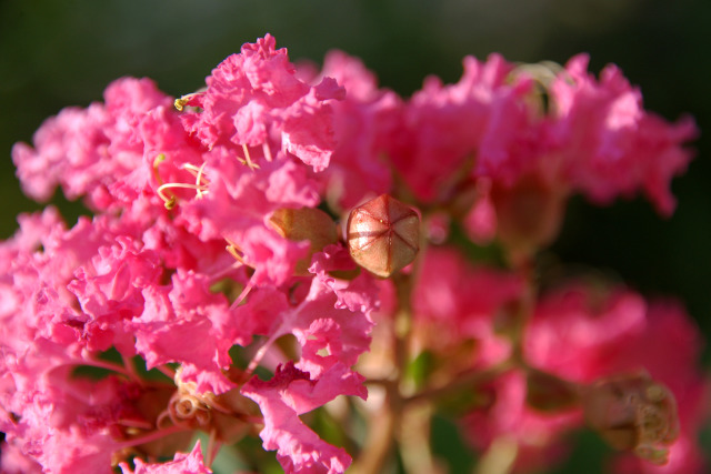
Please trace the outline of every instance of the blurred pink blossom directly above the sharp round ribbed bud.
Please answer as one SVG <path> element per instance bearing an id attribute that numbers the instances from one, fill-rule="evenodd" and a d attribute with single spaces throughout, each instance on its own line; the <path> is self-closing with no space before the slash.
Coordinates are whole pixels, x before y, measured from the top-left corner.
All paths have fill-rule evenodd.
<path id="1" fill-rule="evenodd" d="M 330 51 L 318 75 L 304 69 L 299 72 L 312 75 L 311 83 L 333 78 L 346 89 L 346 99 L 331 103 L 337 145 L 323 177 L 329 202 L 347 210 L 368 195 L 388 193 L 392 175 L 383 154 L 399 127 L 402 101 L 378 89 L 375 75 L 342 51 Z"/>

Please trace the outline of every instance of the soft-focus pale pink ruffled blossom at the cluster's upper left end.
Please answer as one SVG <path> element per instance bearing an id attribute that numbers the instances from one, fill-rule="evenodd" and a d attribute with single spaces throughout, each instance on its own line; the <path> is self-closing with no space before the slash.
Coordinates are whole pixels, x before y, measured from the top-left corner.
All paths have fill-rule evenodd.
<path id="1" fill-rule="evenodd" d="M 34 148 L 18 143 L 12 151 L 24 192 L 44 201 L 60 185 L 69 199 L 86 195 L 93 209 L 107 209 L 113 202 L 108 188 L 141 164 L 141 119 L 170 102 L 152 81 L 124 78 L 109 84 L 104 104 L 64 109 L 48 119 L 34 134 Z"/>

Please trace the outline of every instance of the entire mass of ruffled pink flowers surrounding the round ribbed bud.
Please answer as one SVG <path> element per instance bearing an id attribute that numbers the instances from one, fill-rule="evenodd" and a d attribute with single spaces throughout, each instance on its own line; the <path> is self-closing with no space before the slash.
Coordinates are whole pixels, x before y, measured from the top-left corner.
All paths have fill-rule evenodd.
<path id="1" fill-rule="evenodd" d="M 354 58 L 297 68 L 267 36 L 178 100 L 127 78 L 48 119 L 12 151 L 23 190 L 44 201 L 60 186 L 93 216 L 68 228 L 48 208 L 0 243 L 2 471 L 207 473 L 220 446 L 259 435 L 286 472 L 343 473 L 367 448 L 326 442 L 307 414 L 365 401 L 365 379 L 405 386 L 394 334 L 437 361 L 399 402 L 473 374 L 463 433 L 484 453 L 515 444 L 520 471 L 560 457 L 583 422 L 580 407 L 537 412 L 530 373 L 590 386 L 645 371 L 675 397 L 679 441 L 662 467 L 615 468 L 700 472 L 701 342 L 681 307 L 583 284 L 543 294 L 529 271 L 572 193 L 642 192 L 669 214 L 691 159 L 691 119 L 647 112 L 615 67 L 595 79 L 587 62 L 467 58 L 458 83 L 430 78 L 405 100 Z M 419 209 L 425 241 L 390 280 L 337 232 L 383 193 Z M 277 219 L 304 210 L 299 232 Z M 455 226 L 508 263 L 465 263 Z"/>

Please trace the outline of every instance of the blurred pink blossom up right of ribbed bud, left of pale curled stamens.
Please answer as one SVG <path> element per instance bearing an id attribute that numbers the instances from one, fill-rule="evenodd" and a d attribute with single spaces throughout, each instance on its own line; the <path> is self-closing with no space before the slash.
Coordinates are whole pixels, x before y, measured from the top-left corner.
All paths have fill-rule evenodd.
<path id="1" fill-rule="evenodd" d="M 524 100 L 531 82 L 509 78 L 512 70 L 497 54 L 483 63 L 468 57 L 457 84 L 428 78 L 407 103 L 391 159 L 420 200 L 450 199 L 462 175 L 510 183 L 534 162 L 533 110 Z"/>

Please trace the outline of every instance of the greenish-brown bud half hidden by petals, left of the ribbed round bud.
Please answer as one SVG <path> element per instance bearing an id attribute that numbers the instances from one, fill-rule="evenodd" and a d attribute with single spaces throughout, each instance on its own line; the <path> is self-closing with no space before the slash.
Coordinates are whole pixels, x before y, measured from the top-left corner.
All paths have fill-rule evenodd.
<path id="1" fill-rule="evenodd" d="M 338 242 L 336 223 L 320 209 L 279 209 L 271 215 L 269 223 L 286 239 L 309 241 L 309 255 L 297 262 L 294 269 L 297 275 L 308 275 L 311 256 L 323 250 L 326 245 Z"/>

